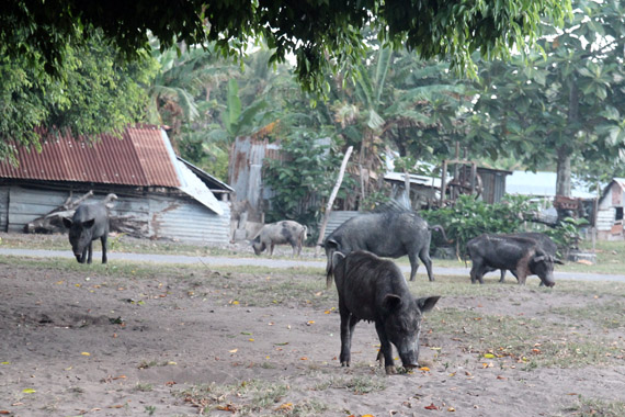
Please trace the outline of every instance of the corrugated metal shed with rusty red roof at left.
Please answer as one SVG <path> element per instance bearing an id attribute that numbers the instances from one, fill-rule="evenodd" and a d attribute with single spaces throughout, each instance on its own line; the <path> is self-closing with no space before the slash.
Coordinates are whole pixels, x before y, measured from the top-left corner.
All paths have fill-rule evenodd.
<path id="1" fill-rule="evenodd" d="M 19 153 L 16 167 L 0 162 L 0 230 L 22 232 L 69 195 L 93 190 L 92 200 L 118 196 L 112 214 L 133 217 L 137 237 L 230 240 L 229 185 L 177 158 L 158 126 L 128 127 L 121 136 L 46 137 L 41 153 Z"/>

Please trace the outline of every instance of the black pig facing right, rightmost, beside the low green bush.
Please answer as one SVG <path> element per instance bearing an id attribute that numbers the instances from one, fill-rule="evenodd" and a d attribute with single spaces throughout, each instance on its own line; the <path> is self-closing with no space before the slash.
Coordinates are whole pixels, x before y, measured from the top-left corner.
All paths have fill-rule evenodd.
<path id="1" fill-rule="evenodd" d="M 480 284 L 486 272 L 505 269 L 514 271 L 521 285 L 535 274 L 545 285 L 554 286 L 554 263 L 561 263 L 535 239 L 513 235 L 480 235 L 467 243 L 467 251 L 473 261 L 470 280 Z"/>

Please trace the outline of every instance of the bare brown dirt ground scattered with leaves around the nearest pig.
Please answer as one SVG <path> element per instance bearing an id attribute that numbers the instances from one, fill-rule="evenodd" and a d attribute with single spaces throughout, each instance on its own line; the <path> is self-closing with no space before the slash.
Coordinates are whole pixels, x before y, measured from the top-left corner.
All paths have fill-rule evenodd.
<path id="1" fill-rule="evenodd" d="M 625 398 L 623 353 L 610 365 L 529 371 L 429 330 L 428 319 L 427 368 L 386 376 L 366 323 L 356 326 L 353 365 L 341 368 L 336 290 L 326 292 L 321 277 L 168 271 L 120 278 L 0 264 L 0 415 L 573 416 L 580 396 Z M 309 290 L 271 301 L 289 286 Z M 428 291 L 425 282 L 420 288 Z M 444 297 L 431 314 L 539 316 L 592 302 L 520 294 L 522 303 Z M 623 352 L 625 329 L 611 331 Z"/>

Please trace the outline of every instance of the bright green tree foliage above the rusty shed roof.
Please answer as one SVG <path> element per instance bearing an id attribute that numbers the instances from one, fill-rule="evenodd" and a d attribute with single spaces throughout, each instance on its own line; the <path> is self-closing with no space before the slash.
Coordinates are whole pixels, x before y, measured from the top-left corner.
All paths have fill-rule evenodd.
<path id="1" fill-rule="evenodd" d="M 96 33 L 65 45 L 56 77 L 26 57 L 0 55 L 0 160 L 12 158 L 16 146 L 36 148 L 37 128 L 90 136 L 140 121 L 144 86 L 156 70 L 150 59 L 116 60 L 115 49 Z"/>

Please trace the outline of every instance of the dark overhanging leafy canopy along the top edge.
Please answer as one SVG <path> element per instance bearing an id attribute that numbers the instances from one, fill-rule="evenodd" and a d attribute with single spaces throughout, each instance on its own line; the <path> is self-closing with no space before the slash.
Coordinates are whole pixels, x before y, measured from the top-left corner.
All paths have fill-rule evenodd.
<path id="1" fill-rule="evenodd" d="M 7 0 L 0 14 L 3 55 L 23 57 L 48 72 L 66 58 L 68 40 L 101 29 L 123 55 L 149 50 L 148 34 L 163 49 L 177 42 L 215 42 L 225 56 L 265 40 L 272 61 L 289 54 L 307 90 L 323 86 L 322 69 L 364 56 L 362 32 L 371 26 L 383 43 L 407 46 L 424 58 L 450 56 L 461 70 L 475 72 L 471 53 L 510 54 L 533 44 L 542 14 L 560 24 L 570 1 L 560 0 L 167 0 L 69 1 Z"/>

